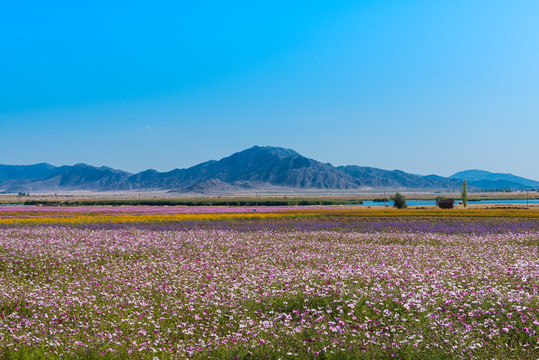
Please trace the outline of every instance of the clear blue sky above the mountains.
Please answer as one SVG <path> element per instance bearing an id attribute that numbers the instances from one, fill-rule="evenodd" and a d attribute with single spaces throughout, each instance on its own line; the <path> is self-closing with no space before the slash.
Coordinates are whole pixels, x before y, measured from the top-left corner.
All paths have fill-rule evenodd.
<path id="1" fill-rule="evenodd" d="M 539 2 L 0 5 L 0 163 L 183 168 L 253 145 L 539 180 Z"/>

